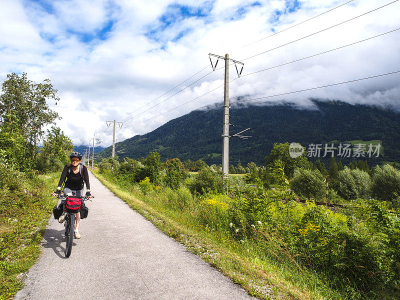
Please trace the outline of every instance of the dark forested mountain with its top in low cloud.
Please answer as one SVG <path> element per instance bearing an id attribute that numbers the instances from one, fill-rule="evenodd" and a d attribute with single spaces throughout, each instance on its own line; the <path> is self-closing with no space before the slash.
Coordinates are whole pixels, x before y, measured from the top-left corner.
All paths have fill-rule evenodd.
<path id="1" fill-rule="evenodd" d="M 337 145 L 348 141 L 373 140 L 374 144 L 381 143 L 384 156 L 367 157 L 368 163 L 376 164 L 383 160 L 400 161 L 399 113 L 378 106 L 352 105 L 342 101 L 315 99 L 313 104 L 311 109 L 300 109 L 292 103 L 232 105 L 229 122 L 233 126 L 229 126 L 229 134 L 251 127 L 243 132 L 251 137 L 229 139 L 229 164 L 246 164 L 249 161 L 263 164 L 273 143 L 286 141 L 298 142 L 308 148 L 309 145 L 318 143 L 324 146 L 329 142 Z M 118 142 L 115 149 L 125 149 L 126 152 L 120 154 L 120 158 L 127 156 L 139 159 L 156 149 L 162 160 L 172 157 L 181 160 L 201 158 L 208 164 L 220 164 L 221 133 L 222 108 L 204 108 L 170 120 L 146 134 L 135 135 Z M 111 147 L 105 148 L 99 155 L 110 156 Z M 318 157 L 312 158 L 315 160 Z M 320 159 L 329 161 L 330 157 Z M 349 162 L 354 158 L 339 160 Z"/>

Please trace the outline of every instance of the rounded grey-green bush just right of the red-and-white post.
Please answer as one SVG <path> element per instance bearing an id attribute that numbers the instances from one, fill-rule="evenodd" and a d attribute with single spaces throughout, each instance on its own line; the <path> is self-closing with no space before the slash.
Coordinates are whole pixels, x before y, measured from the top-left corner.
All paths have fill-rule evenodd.
<path id="1" fill-rule="evenodd" d="M 338 195 L 346 200 L 366 198 L 369 195 L 371 180 L 369 174 L 360 169 L 344 167 L 339 171 Z"/>

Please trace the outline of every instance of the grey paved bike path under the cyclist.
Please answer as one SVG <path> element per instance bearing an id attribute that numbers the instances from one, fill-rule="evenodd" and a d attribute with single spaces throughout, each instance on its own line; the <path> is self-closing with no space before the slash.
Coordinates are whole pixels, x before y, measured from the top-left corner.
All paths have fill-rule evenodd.
<path id="1" fill-rule="evenodd" d="M 63 226 L 51 216 L 42 253 L 14 299 L 255 299 L 159 231 L 89 172 L 81 239 L 64 258 Z"/>

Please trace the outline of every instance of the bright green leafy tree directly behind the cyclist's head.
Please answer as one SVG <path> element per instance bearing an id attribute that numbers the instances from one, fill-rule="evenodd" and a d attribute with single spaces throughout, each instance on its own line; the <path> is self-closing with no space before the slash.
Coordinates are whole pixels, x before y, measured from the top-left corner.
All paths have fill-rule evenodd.
<path id="1" fill-rule="evenodd" d="M 60 128 L 51 126 L 35 158 L 36 168 L 43 172 L 59 170 L 69 163 L 69 153 L 72 151 L 72 140 Z"/>

